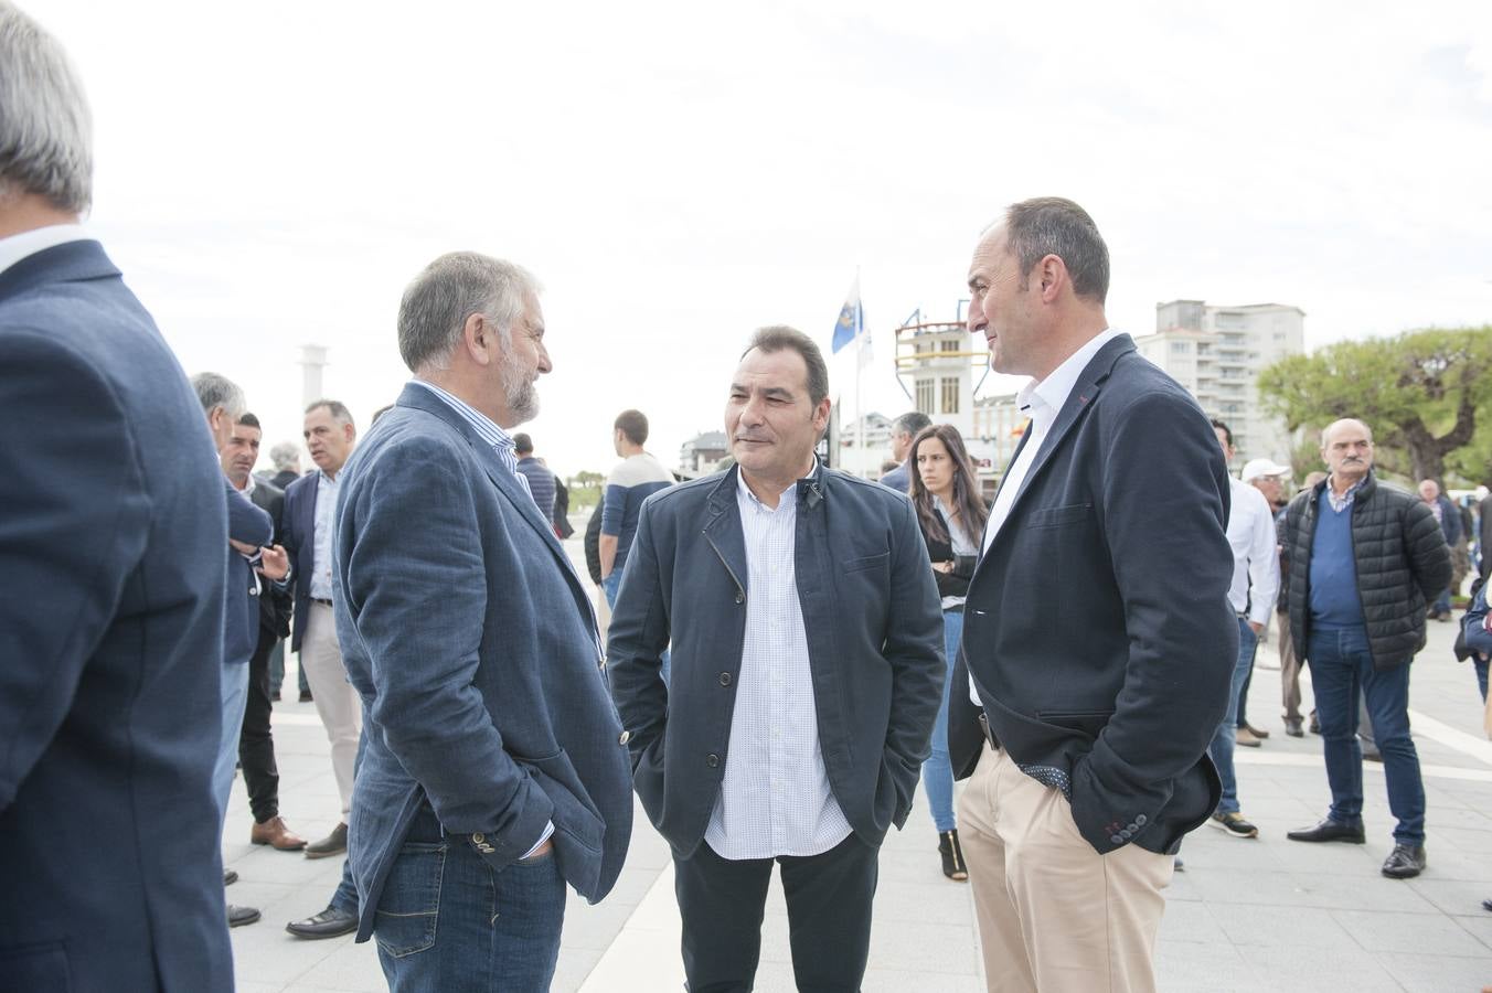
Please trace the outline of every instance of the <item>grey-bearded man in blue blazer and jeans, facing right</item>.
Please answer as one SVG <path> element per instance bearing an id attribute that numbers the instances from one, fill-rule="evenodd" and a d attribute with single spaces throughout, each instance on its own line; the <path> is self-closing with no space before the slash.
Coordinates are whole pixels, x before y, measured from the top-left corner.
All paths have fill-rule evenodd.
<path id="1" fill-rule="evenodd" d="M 349 856 L 395 993 L 548 990 L 565 883 L 612 889 L 627 735 L 585 586 L 516 473 L 551 368 L 537 285 L 473 252 L 404 291 L 415 374 L 348 461 L 333 579 L 367 717 Z"/>

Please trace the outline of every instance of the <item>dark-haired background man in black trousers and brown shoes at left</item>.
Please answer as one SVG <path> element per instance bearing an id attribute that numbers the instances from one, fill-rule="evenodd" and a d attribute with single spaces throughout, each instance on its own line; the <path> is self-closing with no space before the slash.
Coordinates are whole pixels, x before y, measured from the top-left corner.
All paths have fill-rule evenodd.
<path id="1" fill-rule="evenodd" d="M 222 449 L 222 471 L 228 482 L 275 522 L 275 537 L 283 531 L 285 491 L 254 477 L 260 458 L 260 419 L 245 413 L 233 425 L 228 444 Z M 270 652 L 289 635 L 291 598 L 279 583 L 260 590 L 258 643 L 249 658 L 249 689 L 243 705 L 243 729 L 239 732 L 239 766 L 249 790 L 254 828 L 249 841 L 275 845 L 280 851 L 298 851 L 306 839 L 292 832 L 279 816 L 279 766 L 275 762 L 275 734 L 270 729 Z"/>

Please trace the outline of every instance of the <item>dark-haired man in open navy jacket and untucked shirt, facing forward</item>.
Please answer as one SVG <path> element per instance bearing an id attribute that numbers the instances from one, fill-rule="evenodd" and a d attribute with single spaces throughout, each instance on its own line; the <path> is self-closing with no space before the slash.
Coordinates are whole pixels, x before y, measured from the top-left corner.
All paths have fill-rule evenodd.
<path id="1" fill-rule="evenodd" d="M 813 340 L 759 330 L 725 406 L 736 467 L 643 502 L 612 613 L 616 707 L 673 848 L 691 990 L 752 989 L 774 862 L 798 989 L 859 989 L 880 842 L 912 808 L 943 699 L 916 513 L 819 465 L 828 416 Z"/>

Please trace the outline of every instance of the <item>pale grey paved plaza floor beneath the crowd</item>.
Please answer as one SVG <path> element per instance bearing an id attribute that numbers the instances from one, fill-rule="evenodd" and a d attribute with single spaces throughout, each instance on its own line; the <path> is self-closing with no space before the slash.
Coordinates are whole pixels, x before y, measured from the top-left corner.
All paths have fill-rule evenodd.
<path id="1" fill-rule="evenodd" d="M 573 541 L 576 556 L 579 543 Z M 1455 662 L 1455 626 L 1431 623 L 1429 647 L 1414 663 L 1414 740 L 1429 802 L 1429 868 L 1417 880 L 1379 875 L 1392 847 L 1382 766 L 1364 774 L 1367 845 L 1288 841 L 1291 828 L 1326 811 L 1320 738 L 1285 737 L 1277 661 L 1261 650 L 1249 717 L 1271 732 L 1262 748 L 1238 748 L 1243 813 L 1258 839 L 1212 828 L 1183 848 L 1186 871 L 1167 893 L 1158 954 L 1165 992 L 1414 990 L 1476 992 L 1492 983 L 1492 743 L 1468 665 Z M 1273 632 L 1271 632 L 1273 634 Z M 1271 638 L 1273 640 L 1273 638 Z M 294 674 L 286 678 L 294 687 Z M 1310 696 L 1307 681 L 1307 701 Z M 1308 705 L 1308 702 L 1307 702 Z M 337 822 L 337 790 L 325 734 L 312 704 L 275 710 L 280 807 L 291 828 L 319 838 Z M 340 859 L 307 860 L 248 844 L 251 817 L 234 786 L 224 860 L 240 881 L 236 904 L 264 918 L 233 933 L 239 989 L 248 993 L 385 990 L 373 944 L 352 938 L 300 941 L 285 923 L 322 910 Z M 756 989 L 792 990 L 780 889 L 768 898 Z M 938 871 L 937 836 L 919 792 L 907 829 L 892 832 L 880 857 L 880 887 L 867 992 L 983 990 L 968 887 Z M 589 907 L 570 893 L 555 990 L 628 993 L 682 990 L 679 918 L 667 845 L 642 808 L 627 868 L 612 895 Z"/>

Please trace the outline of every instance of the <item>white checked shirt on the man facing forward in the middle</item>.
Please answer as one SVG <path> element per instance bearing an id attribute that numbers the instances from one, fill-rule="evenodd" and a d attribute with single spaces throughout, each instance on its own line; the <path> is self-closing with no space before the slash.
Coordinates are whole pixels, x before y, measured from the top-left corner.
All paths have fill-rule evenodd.
<path id="1" fill-rule="evenodd" d="M 704 839 L 722 859 L 813 856 L 844 841 L 850 828 L 819 750 L 794 568 L 798 488 L 785 489 L 773 510 L 737 479 L 746 538 L 746 641 L 725 775 Z"/>

